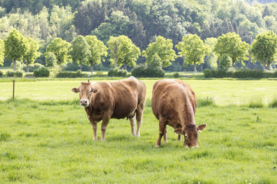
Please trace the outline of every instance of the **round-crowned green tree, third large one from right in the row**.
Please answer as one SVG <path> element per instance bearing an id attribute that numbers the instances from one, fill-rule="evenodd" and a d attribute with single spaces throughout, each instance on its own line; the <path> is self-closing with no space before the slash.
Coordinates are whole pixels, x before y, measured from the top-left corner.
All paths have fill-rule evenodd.
<path id="1" fill-rule="evenodd" d="M 204 57 L 209 51 L 208 45 L 204 45 L 202 39 L 196 34 L 188 34 L 182 38 L 182 41 L 175 46 L 178 50 L 179 57 L 184 57 L 184 62 L 194 65 L 195 74 L 196 65 L 204 63 Z"/>

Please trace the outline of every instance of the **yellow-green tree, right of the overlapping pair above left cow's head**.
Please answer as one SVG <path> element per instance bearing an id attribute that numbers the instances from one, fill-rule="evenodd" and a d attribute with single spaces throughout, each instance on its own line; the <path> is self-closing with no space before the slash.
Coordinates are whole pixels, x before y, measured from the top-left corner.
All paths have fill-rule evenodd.
<path id="1" fill-rule="evenodd" d="M 88 35 L 85 37 L 89 50 L 91 52 L 88 59 L 88 65 L 91 66 L 91 74 L 93 73 L 93 65 L 100 64 L 104 57 L 107 57 L 107 47 L 104 43 L 97 39 L 96 36 Z"/>

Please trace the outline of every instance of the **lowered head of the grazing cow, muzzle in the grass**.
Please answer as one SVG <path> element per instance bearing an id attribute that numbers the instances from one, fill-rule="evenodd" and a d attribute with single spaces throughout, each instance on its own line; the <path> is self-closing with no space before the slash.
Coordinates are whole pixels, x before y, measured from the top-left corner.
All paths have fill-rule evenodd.
<path id="1" fill-rule="evenodd" d="M 188 146 L 190 148 L 192 147 L 198 147 L 198 132 L 205 129 L 207 125 L 195 125 L 193 123 L 186 124 L 183 128 L 179 128 L 175 130 L 176 134 L 184 135 L 185 141 L 184 146 Z"/>

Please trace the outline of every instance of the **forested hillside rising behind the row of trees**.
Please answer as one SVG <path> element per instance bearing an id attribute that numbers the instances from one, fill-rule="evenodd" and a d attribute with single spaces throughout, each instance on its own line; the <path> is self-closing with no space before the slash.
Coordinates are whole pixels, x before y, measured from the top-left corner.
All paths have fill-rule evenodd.
<path id="1" fill-rule="evenodd" d="M 259 2 L 259 3 L 258 3 Z M 156 36 L 177 45 L 184 35 L 202 40 L 228 32 L 249 44 L 261 32 L 277 32 L 277 3 L 243 0 L 0 0 L 0 39 L 16 28 L 39 41 L 39 51 L 56 37 L 71 42 L 79 34 L 125 35 L 141 50 Z M 44 55 L 39 57 L 44 63 Z M 143 61 L 140 61 L 143 62 Z"/>

